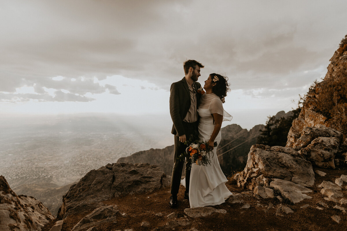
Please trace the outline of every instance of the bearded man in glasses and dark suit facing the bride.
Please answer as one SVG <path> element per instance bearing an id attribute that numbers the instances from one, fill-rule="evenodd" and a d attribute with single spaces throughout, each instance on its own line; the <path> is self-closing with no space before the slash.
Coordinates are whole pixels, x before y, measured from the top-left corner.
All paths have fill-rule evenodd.
<path id="1" fill-rule="evenodd" d="M 170 115 L 174 125 L 171 133 L 175 135 L 175 159 L 172 168 L 171 178 L 171 197 L 169 205 L 176 207 L 178 205 L 177 193 L 181 181 L 184 161 L 177 160 L 181 153 L 184 153 L 187 145 L 184 144 L 191 134 L 197 131 L 197 107 L 199 105 L 200 94 L 197 89 L 201 88 L 200 83 L 196 82 L 200 76 L 200 68 L 204 66 L 195 61 L 187 60 L 183 63 L 185 77 L 175 83 L 170 88 Z M 189 159 L 186 158 L 186 162 Z M 189 177 L 191 170 L 186 165 L 186 191 L 184 197 L 189 199 Z"/>

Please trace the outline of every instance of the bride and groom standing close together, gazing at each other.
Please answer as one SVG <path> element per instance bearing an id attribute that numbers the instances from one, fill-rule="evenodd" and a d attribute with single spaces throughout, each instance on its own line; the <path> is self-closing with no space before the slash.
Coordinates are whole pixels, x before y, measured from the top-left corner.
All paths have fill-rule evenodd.
<path id="1" fill-rule="evenodd" d="M 171 133 L 175 135 L 175 160 L 171 178 L 171 197 L 169 205 L 178 205 L 178 189 L 181 181 L 184 161 L 177 157 L 184 153 L 187 145 L 184 144 L 191 134 L 199 133 L 199 139 L 208 141 L 213 149 L 211 166 L 200 166 L 192 164 L 192 169 L 186 165 L 186 191 L 184 197 L 189 199 L 191 208 L 219 205 L 231 195 L 225 186 L 227 178 L 224 176 L 217 158 L 217 147 L 213 148 L 213 143 L 218 144 L 221 140 L 220 128 L 223 120 L 231 120 L 231 116 L 223 110 L 222 103 L 224 96 L 229 90 L 225 77 L 219 74 L 210 74 L 205 81 L 204 89 L 201 91 L 199 78 L 200 68 L 204 66 L 195 61 L 187 60 L 183 64 L 185 77 L 175 83 L 170 88 L 170 115 L 174 125 Z M 226 118 L 226 117 L 229 117 Z M 189 159 L 186 158 L 186 162 Z"/>

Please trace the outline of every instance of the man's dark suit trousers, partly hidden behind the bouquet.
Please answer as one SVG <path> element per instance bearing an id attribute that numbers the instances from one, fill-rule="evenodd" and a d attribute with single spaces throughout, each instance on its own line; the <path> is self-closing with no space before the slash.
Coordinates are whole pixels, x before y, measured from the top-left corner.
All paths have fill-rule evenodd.
<path id="1" fill-rule="evenodd" d="M 188 140 L 190 138 L 190 135 L 194 135 L 197 132 L 197 122 L 194 123 L 187 123 L 183 122 L 185 132 L 186 132 L 186 139 Z M 179 136 L 175 135 L 175 146 L 174 146 L 174 167 L 172 168 L 172 175 L 171 175 L 171 194 L 177 195 L 179 186 L 181 183 L 181 176 L 182 176 L 182 170 L 184 161 L 178 160 L 177 157 L 181 155 L 181 153 L 184 153 L 186 151 L 188 145 L 185 145 L 184 143 L 179 141 Z M 186 163 L 190 161 L 189 158 L 186 158 Z M 186 164 L 186 192 L 189 192 L 189 180 L 191 176 L 191 170 L 188 169 L 189 165 Z"/>

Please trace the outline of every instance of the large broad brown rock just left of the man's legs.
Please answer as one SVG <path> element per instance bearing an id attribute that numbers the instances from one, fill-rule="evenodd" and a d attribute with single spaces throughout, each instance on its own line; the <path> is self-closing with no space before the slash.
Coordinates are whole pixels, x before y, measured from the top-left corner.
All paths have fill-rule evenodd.
<path id="1" fill-rule="evenodd" d="M 78 213 L 86 207 L 91 210 L 96 203 L 134 193 L 153 192 L 170 185 L 166 174 L 157 166 L 148 163 L 114 163 L 91 170 L 79 182 L 72 185 L 63 196 L 58 217 L 65 218 L 67 212 Z"/>

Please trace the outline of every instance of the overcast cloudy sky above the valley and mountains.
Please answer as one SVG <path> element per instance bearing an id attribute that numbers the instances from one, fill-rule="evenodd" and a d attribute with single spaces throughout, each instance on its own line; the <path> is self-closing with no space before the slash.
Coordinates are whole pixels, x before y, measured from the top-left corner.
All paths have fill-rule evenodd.
<path id="1" fill-rule="evenodd" d="M 168 115 L 170 85 L 195 59 L 202 85 L 212 72 L 229 77 L 224 107 L 249 129 L 324 78 L 346 9 L 345 0 L 0 1 L 0 116 Z"/>

